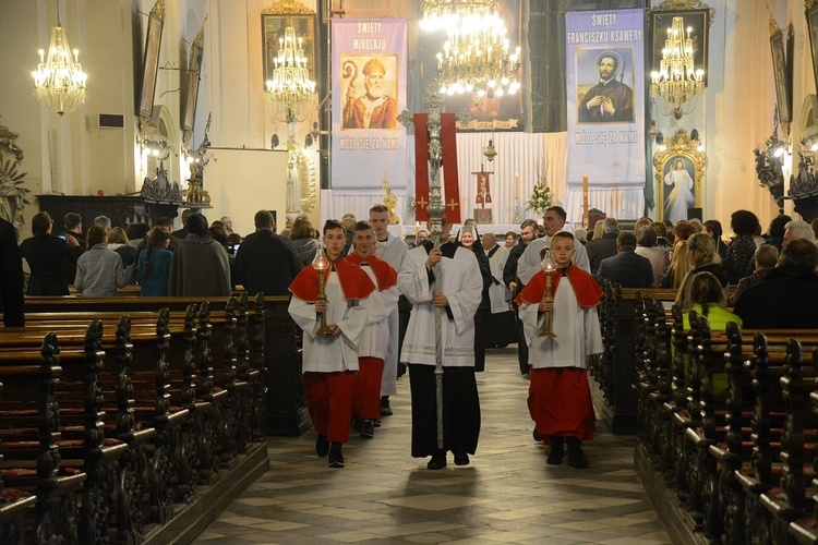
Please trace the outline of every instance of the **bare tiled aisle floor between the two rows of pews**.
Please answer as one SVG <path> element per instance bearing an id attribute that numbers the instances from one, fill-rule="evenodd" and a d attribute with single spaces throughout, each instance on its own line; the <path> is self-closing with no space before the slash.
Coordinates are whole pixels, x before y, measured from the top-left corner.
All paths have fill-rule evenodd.
<path id="1" fill-rule="evenodd" d="M 634 470 L 633 437 L 597 421 L 591 467 L 546 465 L 531 438 L 516 349 L 489 350 L 478 374 L 482 429 L 471 464 L 426 470 L 409 456 L 408 376 L 374 439 L 350 431 L 346 468 L 313 452 L 315 433 L 270 437 L 269 471 L 195 543 L 670 543 Z"/>

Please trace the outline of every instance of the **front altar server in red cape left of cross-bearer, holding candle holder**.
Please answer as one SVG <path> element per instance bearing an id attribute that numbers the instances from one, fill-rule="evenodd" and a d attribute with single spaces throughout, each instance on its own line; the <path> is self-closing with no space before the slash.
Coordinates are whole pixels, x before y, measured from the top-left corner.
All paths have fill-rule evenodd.
<path id="1" fill-rule="evenodd" d="M 342 468 L 341 445 L 349 437 L 352 389 L 358 371 L 358 343 L 366 326 L 366 302 L 375 286 L 361 267 L 339 261 L 347 242 L 344 226 L 324 225 L 326 256 L 332 267 L 324 272 L 326 301 L 318 301 L 318 274 L 306 266 L 290 284 L 294 295 L 289 313 L 303 329 L 304 397 L 318 434 L 315 453 L 329 455 L 330 468 Z M 321 313 L 326 313 L 332 335 L 316 335 Z"/>

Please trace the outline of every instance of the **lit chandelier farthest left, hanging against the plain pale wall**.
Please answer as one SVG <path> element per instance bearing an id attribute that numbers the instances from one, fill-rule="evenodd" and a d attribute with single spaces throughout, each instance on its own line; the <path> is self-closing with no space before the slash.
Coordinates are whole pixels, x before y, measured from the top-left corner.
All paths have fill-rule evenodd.
<path id="1" fill-rule="evenodd" d="M 71 51 L 60 24 L 60 2 L 57 2 L 57 26 L 51 28 L 48 57 L 39 50 L 39 64 L 34 76 L 34 96 L 49 110 L 62 116 L 85 102 L 87 75 L 79 61 L 80 51 Z"/>

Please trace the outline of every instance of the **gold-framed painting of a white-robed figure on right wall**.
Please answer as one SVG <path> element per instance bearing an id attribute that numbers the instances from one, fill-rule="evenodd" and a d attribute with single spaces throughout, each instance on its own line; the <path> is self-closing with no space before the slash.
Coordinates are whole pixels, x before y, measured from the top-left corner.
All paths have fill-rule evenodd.
<path id="1" fill-rule="evenodd" d="M 665 149 L 653 156 L 658 221 L 676 223 L 687 219 L 688 209 L 701 207 L 707 156 L 697 148 L 687 132 L 678 131 L 666 141 Z"/>

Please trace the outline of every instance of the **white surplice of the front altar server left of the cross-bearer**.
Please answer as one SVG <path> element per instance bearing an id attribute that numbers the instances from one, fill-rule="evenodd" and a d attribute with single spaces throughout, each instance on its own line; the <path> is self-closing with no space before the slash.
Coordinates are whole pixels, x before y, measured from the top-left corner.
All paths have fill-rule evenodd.
<path id="1" fill-rule="evenodd" d="M 358 371 L 358 343 L 366 326 L 368 300 L 347 301 L 335 271 L 329 274 L 325 292 L 326 323 L 338 324 L 341 330 L 336 337 L 315 335 L 321 327 L 321 319 L 318 319 L 314 304 L 305 303 L 296 295 L 290 300 L 290 316 L 304 331 L 302 371 L 304 373 Z"/>

